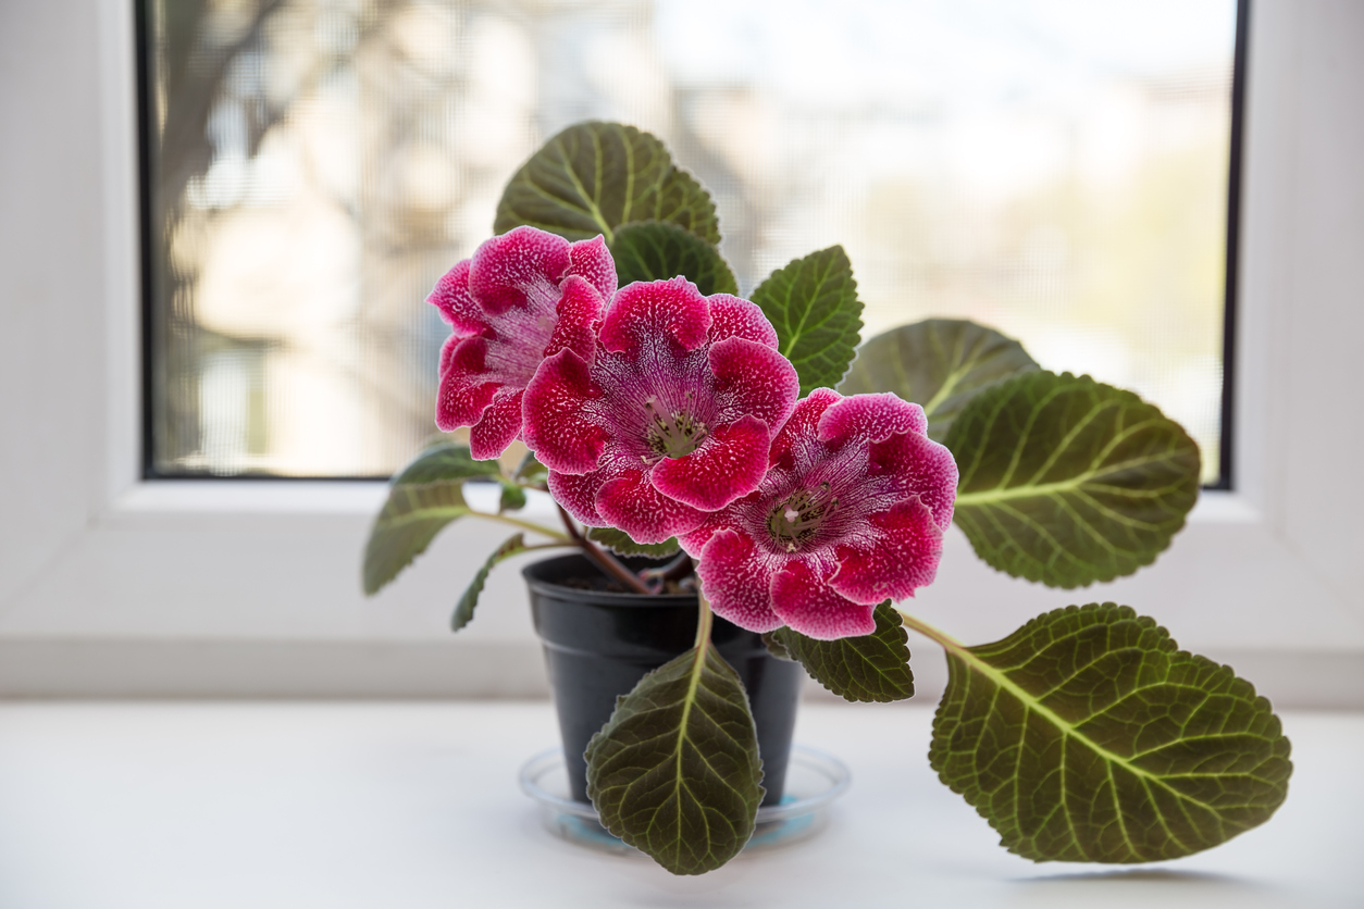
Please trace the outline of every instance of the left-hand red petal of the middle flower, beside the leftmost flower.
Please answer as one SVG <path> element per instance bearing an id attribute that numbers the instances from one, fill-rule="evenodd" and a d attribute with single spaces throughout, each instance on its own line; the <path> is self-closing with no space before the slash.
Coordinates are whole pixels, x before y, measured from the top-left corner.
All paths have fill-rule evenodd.
<path id="1" fill-rule="evenodd" d="M 588 364 L 573 350 L 561 350 L 540 364 L 521 405 L 522 436 L 540 463 L 559 473 L 596 470 L 610 436 L 584 405 L 599 395 Z"/>

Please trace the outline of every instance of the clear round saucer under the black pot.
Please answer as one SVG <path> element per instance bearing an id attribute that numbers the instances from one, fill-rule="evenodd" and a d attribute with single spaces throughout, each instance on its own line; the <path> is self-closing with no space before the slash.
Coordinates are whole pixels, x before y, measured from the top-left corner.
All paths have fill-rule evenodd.
<path id="1" fill-rule="evenodd" d="M 622 856 L 642 856 L 607 833 L 596 808 L 569 797 L 563 751 L 550 748 L 521 767 L 521 790 L 540 805 L 540 819 L 550 833 L 569 842 Z M 757 826 L 745 852 L 761 852 L 809 839 L 828 819 L 829 804 L 848 788 L 847 766 L 832 755 L 805 745 L 791 747 L 782 804 L 758 808 Z"/>

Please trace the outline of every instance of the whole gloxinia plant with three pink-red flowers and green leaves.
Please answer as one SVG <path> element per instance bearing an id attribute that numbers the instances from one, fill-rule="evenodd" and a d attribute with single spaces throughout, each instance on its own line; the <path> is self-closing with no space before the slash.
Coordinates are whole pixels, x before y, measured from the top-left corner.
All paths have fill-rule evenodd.
<path id="1" fill-rule="evenodd" d="M 469 444 L 441 442 L 394 477 L 364 586 L 477 515 L 518 533 L 460 598 L 456 630 L 491 568 L 529 549 L 578 546 L 637 593 L 696 590 L 696 646 L 622 692 L 588 747 L 588 795 L 611 833 L 700 874 L 753 831 L 761 762 L 712 609 L 848 700 L 913 696 L 906 628 L 941 645 L 929 762 L 1035 861 L 1184 856 L 1284 801 L 1289 743 L 1269 702 L 1153 619 L 1067 605 L 967 646 L 902 605 L 933 582 L 953 522 L 988 564 L 1052 587 L 1154 561 L 1199 491 L 1198 447 L 1157 407 L 1046 372 L 970 322 L 858 348 L 839 247 L 735 296 L 709 195 L 632 127 L 552 138 L 513 176 L 494 230 L 431 294 L 451 326 L 436 424 L 468 427 Z M 517 439 L 531 451 L 518 467 L 491 459 Z M 501 485 L 495 512 L 469 507 L 469 480 Z M 517 514 L 528 489 L 555 499 L 563 530 Z M 662 564 L 618 557 L 641 553 Z M 659 681 L 678 676 L 693 684 Z M 689 709 L 700 692 L 747 729 L 708 725 Z M 641 720 L 660 706 L 681 707 L 662 711 L 675 722 Z M 683 741 L 697 760 L 675 759 Z M 745 778 L 704 785 L 722 766 Z M 645 778 L 649 797 L 633 785 Z"/>

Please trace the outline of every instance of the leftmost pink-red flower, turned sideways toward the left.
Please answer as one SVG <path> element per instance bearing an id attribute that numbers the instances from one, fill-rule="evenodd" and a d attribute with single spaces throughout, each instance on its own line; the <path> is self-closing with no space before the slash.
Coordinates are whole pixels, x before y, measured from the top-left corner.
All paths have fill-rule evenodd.
<path id="1" fill-rule="evenodd" d="M 589 356 L 615 263 L 602 237 L 569 243 L 535 228 L 492 237 L 427 301 L 450 324 L 435 425 L 469 431 L 469 454 L 496 458 L 521 435 L 521 397 L 544 357 Z"/>

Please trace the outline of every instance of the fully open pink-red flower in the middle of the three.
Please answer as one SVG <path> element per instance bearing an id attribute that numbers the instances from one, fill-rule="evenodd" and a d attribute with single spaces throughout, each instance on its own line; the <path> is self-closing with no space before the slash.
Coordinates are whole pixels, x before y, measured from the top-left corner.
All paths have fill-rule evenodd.
<path id="1" fill-rule="evenodd" d="M 686 278 L 622 288 L 591 356 L 565 348 L 525 391 L 525 443 L 574 518 L 662 542 L 753 492 L 799 395 L 754 304 Z"/>

